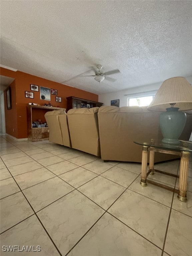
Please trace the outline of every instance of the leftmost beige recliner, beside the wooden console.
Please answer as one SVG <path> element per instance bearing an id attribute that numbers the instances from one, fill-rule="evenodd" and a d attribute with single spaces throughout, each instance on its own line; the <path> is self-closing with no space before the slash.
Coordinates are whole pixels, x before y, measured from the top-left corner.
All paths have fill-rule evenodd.
<path id="1" fill-rule="evenodd" d="M 45 119 L 49 127 L 49 141 L 70 147 L 67 114 L 64 110 L 54 110 L 45 113 Z"/>

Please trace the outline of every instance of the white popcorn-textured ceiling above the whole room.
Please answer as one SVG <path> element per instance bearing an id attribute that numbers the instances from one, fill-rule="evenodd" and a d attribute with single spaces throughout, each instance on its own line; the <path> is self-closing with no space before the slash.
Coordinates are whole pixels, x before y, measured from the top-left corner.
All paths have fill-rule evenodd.
<path id="1" fill-rule="evenodd" d="M 192 1 L 3 1 L 1 64 L 103 94 L 192 75 Z"/>

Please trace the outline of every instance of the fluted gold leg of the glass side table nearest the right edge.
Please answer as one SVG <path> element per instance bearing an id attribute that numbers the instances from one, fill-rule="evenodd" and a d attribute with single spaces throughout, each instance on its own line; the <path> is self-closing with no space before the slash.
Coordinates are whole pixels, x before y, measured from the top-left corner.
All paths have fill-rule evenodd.
<path id="1" fill-rule="evenodd" d="M 189 166 L 189 155 L 190 152 L 181 151 L 181 167 L 180 167 L 180 178 L 179 178 L 179 200 L 187 201 L 187 176 Z"/>

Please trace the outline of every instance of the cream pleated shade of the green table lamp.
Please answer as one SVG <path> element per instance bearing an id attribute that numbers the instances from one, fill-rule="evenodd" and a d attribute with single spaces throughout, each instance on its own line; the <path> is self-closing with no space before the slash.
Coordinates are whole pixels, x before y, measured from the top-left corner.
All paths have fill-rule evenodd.
<path id="1" fill-rule="evenodd" d="M 170 103 L 180 111 L 192 109 L 192 86 L 184 77 L 165 80 L 148 106 L 152 111 L 166 111 Z"/>

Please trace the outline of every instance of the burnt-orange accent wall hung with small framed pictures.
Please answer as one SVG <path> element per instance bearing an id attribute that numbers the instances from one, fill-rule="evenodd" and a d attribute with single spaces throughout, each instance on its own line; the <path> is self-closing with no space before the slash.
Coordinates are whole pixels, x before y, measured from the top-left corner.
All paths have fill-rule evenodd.
<path id="1" fill-rule="evenodd" d="M 50 103 L 53 107 L 67 108 L 66 97 L 74 96 L 92 101 L 98 101 L 98 95 L 90 92 L 86 92 L 77 88 L 73 88 L 67 85 L 63 85 L 57 82 L 53 82 L 41 77 L 33 76 L 21 71 L 11 71 L 9 69 L 0 68 L 1 75 L 15 78 L 11 84 L 11 97 L 12 97 L 12 109 L 7 110 L 6 94 L 5 96 L 5 121 L 6 121 L 6 133 L 14 136 L 15 138 L 27 138 L 27 111 L 26 106 L 28 103 L 33 102 L 41 106 L 48 104 L 49 101 L 40 99 L 40 86 L 57 90 L 57 96 L 62 97 L 62 102 L 56 102 L 56 95 L 51 94 Z M 39 91 L 31 91 L 30 84 L 39 86 Z M 26 98 L 25 91 L 33 92 L 34 99 Z M 42 115 L 40 115 L 40 119 Z M 14 132 L 13 132 L 14 129 Z"/>

